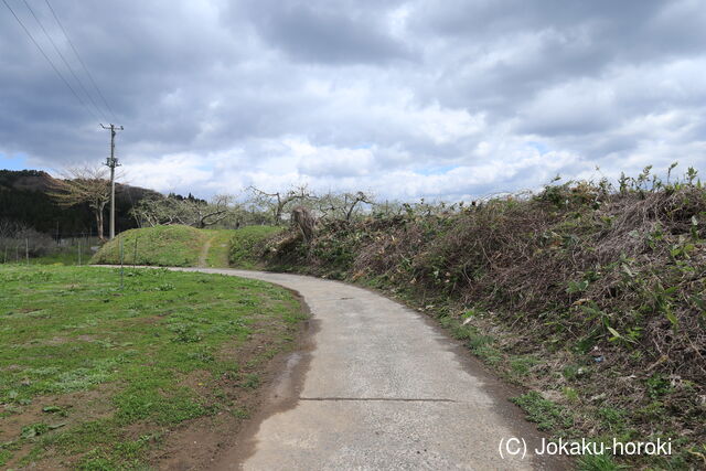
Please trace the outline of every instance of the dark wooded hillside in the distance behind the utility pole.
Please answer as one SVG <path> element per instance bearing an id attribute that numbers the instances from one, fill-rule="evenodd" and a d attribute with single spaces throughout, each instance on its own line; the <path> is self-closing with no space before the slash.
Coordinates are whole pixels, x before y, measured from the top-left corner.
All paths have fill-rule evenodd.
<path id="1" fill-rule="evenodd" d="M 86 205 L 58 207 L 49 196 L 53 176 L 39 170 L 0 170 L 0 218 L 22 222 L 36 231 L 68 236 L 96 233 L 94 217 Z M 116 185 L 116 225 L 119 231 L 136 227 L 130 208 L 153 190 Z M 106 218 L 106 225 L 108 224 Z"/>

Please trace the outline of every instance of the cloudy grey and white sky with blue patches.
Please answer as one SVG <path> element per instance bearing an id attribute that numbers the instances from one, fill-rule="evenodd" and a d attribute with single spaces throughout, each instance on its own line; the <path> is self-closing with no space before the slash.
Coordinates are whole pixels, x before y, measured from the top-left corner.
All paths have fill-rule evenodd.
<path id="1" fill-rule="evenodd" d="M 3 1 L 85 106 L 0 4 L 0 168 L 98 162 L 98 122 L 117 121 L 130 183 L 203 196 L 706 171 L 699 0 L 26 0 L 90 97 L 24 0 Z"/>

